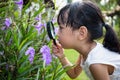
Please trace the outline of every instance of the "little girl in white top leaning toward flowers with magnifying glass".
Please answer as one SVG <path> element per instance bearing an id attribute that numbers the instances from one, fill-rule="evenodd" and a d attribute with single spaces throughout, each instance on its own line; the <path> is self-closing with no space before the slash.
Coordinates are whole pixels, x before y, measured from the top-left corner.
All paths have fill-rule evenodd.
<path id="1" fill-rule="evenodd" d="M 70 78 L 76 78 L 84 69 L 90 80 L 120 80 L 120 43 L 95 4 L 66 5 L 59 12 L 58 24 L 59 43 L 53 44 L 53 53 L 63 68 L 72 66 L 63 48 L 75 49 L 80 54 L 75 66 L 66 71 Z M 103 28 L 106 34 L 101 44 L 94 40 L 103 36 Z"/>

